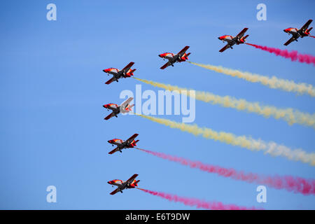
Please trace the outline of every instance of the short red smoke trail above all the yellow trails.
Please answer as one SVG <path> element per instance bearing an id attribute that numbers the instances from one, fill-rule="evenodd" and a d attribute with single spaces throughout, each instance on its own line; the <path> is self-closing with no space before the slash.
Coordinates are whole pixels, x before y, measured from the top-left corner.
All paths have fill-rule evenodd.
<path id="1" fill-rule="evenodd" d="M 290 58 L 291 61 L 293 61 L 293 62 L 298 60 L 299 62 L 303 62 L 303 63 L 307 63 L 307 64 L 313 63 L 315 65 L 315 57 L 314 56 L 301 55 L 296 50 L 289 52 L 288 50 L 281 50 L 278 48 L 269 48 L 266 46 L 260 46 L 260 45 L 255 45 L 255 44 L 251 44 L 251 43 L 246 43 L 246 44 L 251 45 L 255 48 L 261 49 L 261 50 L 265 50 L 265 51 L 270 52 L 270 53 L 274 53 L 276 56 Z"/>

